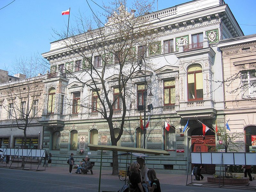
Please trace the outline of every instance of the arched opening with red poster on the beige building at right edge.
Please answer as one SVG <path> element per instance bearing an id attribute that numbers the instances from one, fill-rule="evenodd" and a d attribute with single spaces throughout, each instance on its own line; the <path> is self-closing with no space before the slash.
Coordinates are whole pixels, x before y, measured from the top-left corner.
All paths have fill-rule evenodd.
<path id="1" fill-rule="evenodd" d="M 245 149 L 246 152 L 256 151 L 256 126 L 248 126 L 245 131 Z"/>

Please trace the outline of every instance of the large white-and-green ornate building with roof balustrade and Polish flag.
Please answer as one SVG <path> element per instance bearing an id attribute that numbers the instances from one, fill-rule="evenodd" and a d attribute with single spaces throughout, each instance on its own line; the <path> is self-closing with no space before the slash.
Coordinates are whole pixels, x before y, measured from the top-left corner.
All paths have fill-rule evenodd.
<path id="1" fill-rule="evenodd" d="M 225 125 L 222 58 L 217 43 L 244 34 L 228 5 L 219 0 L 195 0 L 139 18 L 134 17 L 134 10 L 127 12 L 121 6 L 118 14 L 118 18 L 137 19 L 146 26 L 135 28 L 137 33 L 127 42 L 136 36 L 140 40 L 142 34 L 150 41 L 138 40 L 132 44 L 131 58 L 125 60 L 140 58 L 142 63 L 138 62 L 137 67 L 142 64 L 140 67 L 145 70 L 138 76 L 142 69 L 137 68 L 127 82 L 130 97 L 126 103 L 124 131 L 117 145 L 167 150 L 170 156 L 148 157 L 147 166 L 161 172 L 185 174 L 190 152 L 211 151 L 217 141 L 216 123 Z M 112 43 L 109 47 L 118 44 L 120 39 L 108 33 L 115 27 L 114 20 L 109 17 L 104 28 L 52 42 L 50 51 L 42 54 L 51 64 L 51 72 L 43 81 L 44 100 L 47 100 L 41 119 L 43 148 L 52 153 L 56 164 L 66 164 L 70 153 L 76 154 L 79 160 L 79 150 L 84 149 L 84 154 L 97 166 L 99 153 L 87 148 L 87 144 L 111 145 L 108 123 L 99 112 L 103 107 L 98 100 L 99 92 L 104 91 L 102 83 L 111 90 L 109 98 L 115 100 L 112 121 L 115 133 L 120 132 L 123 108 L 115 86 L 120 77 L 113 66 L 121 58 L 121 52 L 103 52 L 105 40 L 99 40 L 104 32 L 104 37 Z M 106 66 L 109 71 L 104 73 L 102 81 L 89 78 L 88 71 L 102 73 Z M 133 69 L 132 65 L 130 68 Z M 147 105 L 152 103 L 154 109 L 146 114 L 150 123 L 143 146 L 138 107 L 145 101 Z M 170 124 L 169 131 L 164 127 L 164 120 Z M 205 136 L 198 120 L 211 128 Z M 111 152 L 104 154 L 104 161 L 105 168 L 112 167 Z M 205 168 L 207 173 L 214 170 L 212 166 Z"/>

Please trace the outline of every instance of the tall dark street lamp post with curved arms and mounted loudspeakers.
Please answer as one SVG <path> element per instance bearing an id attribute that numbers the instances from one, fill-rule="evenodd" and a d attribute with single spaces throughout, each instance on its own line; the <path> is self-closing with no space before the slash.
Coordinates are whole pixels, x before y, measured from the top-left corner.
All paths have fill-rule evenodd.
<path id="1" fill-rule="evenodd" d="M 142 60 L 144 61 L 144 66 L 145 66 L 145 70 L 144 70 L 144 74 L 141 70 L 141 67 L 142 67 Z M 143 111 L 144 113 L 144 125 L 143 125 L 143 148 L 145 149 L 146 148 L 146 113 L 151 111 L 153 109 L 153 105 L 152 104 L 149 104 L 148 105 L 148 110 L 146 111 L 146 92 L 148 92 L 148 88 L 150 90 L 148 96 L 154 96 L 151 92 L 151 88 L 148 86 L 147 84 L 147 81 L 146 81 L 146 62 L 145 62 L 145 59 L 143 56 L 140 56 L 138 58 L 138 65 L 139 65 L 139 73 L 138 73 L 138 76 L 141 77 L 144 75 L 144 93 L 143 93 L 143 105 L 138 105 L 138 111 Z"/>

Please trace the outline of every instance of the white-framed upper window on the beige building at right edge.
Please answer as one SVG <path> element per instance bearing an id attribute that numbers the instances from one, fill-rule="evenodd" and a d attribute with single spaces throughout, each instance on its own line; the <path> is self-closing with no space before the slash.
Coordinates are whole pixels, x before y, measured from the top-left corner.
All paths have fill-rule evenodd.
<path id="1" fill-rule="evenodd" d="M 256 97 L 256 69 L 241 71 L 242 98 Z"/>

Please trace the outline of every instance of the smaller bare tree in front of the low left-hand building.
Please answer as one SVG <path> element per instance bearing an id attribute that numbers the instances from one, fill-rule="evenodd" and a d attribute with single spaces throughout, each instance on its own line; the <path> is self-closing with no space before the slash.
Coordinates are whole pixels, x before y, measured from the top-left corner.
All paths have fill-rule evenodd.
<path id="1" fill-rule="evenodd" d="M 43 92 L 44 69 L 36 57 L 16 60 L 14 69 L 15 81 L 2 84 L 1 91 L 4 100 L 1 104 L 6 111 L 7 119 L 20 130 L 23 130 L 24 141 L 22 148 L 26 148 L 27 128 L 31 123 L 36 123 L 42 114 L 41 93 Z M 24 166 L 24 157 L 22 165 Z"/>

